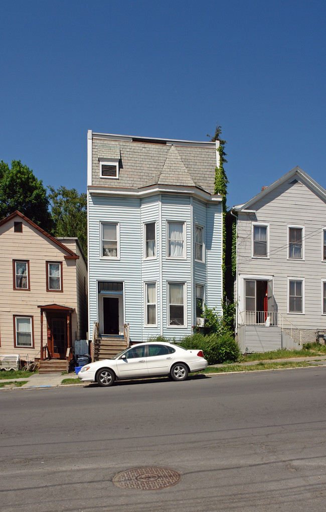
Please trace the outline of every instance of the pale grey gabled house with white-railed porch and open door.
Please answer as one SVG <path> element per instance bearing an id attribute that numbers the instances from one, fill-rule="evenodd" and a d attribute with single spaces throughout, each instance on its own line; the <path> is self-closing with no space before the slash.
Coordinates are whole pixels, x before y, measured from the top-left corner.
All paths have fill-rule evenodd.
<path id="1" fill-rule="evenodd" d="M 242 352 L 326 333 L 326 190 L 299 167 L 234 206 L 236 334 Z"/>

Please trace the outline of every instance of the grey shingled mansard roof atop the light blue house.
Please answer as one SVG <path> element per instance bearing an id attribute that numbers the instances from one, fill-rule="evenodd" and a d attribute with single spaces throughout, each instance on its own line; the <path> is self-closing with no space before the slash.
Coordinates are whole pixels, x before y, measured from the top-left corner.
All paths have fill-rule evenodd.
<path id="1" fill-rule="evenodd" d="M 89 189 L 144 189 L 155 185 L 195 187 L 214 195 L 219 142 L 146 139 L 88 133 Z M 91 157 L 90 157 L 91 154 Z M 101 160 L 119 160 L 119 179 L 100 178 Z M 90 180 L 92 166 L 92 179 Z"/>

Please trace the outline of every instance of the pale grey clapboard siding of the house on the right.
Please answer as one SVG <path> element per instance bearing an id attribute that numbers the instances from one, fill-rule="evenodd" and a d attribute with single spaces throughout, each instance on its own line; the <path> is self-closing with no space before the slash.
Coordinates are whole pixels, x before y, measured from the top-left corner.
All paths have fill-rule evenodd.
<path id="1" fill-rule="evenodd" d="M 298 183 L 290 183 L 294 178 Z M 321 314 L 321 280 L 326 279 L 326 261 L 322 261 L 322 230 L 326 227 L 326 204 L 321 194 L 293 175 L 265 197 L 250 205 L 255 213 L 240 211 L 237 221 L 237 272 L 242 275 L 272 275 L 273 295 L 287 321 L 300 329 L 326 329 L 326 316 Z M 252 258 L 252 224 L 269 225 L 269 258 Z M 304 229 L 304 259 L 288 259 L 288 226 Z M 305 283 L 305 314 L 288 313 L 288 279 Z M 238 293 L 239 290 L 238 290 Z M 244 309 L 244 296 L 240 309 Z"/>

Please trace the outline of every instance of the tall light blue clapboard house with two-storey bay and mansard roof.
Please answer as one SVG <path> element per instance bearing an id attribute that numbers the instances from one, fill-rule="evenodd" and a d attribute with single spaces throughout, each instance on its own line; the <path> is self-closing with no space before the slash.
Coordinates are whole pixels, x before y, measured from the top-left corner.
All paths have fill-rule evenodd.
<path id="1" fill-rule="evenodd" d="M 218 144 L 88 132 L 91 339 L 180 339 L 221 311 Z"/>

